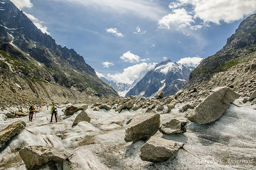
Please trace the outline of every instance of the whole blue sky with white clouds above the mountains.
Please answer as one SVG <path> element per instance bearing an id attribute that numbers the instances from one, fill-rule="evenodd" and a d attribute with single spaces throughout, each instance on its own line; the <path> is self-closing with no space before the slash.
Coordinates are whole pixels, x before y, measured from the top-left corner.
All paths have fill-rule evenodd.
<path id="1" fill-rule="evenodd" d="M 11 1 L 99 77 L 130 84 L 161 61 L 214 55 L 256 12 L 256 0 Z"/>

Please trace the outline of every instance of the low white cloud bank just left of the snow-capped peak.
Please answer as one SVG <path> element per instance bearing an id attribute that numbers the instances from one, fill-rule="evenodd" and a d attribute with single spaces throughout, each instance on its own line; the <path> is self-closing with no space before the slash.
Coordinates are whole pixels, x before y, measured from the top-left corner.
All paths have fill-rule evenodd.
<path id="1" fill-rule="evenodd" d="M 107 78 L 114 82 L 129 83 L 132 84 L 134 80 L 139 78 L 139 75 L 143 71 L 149 71 L 155 68 L 157 63 L 141 63 L 125 68 L 122 73 L 108 74 Z"/>

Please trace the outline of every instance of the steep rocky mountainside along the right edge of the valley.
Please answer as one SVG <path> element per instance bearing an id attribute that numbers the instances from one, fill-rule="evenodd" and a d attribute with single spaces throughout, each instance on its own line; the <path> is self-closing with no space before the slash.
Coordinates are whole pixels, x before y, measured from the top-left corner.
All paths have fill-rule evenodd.
<path id="1" fill-rule="evenodd" d="M 204 59 L 189 76 L 184 90 L 211 89 L 233 84 L 239 86 L 256 77 L 256 14 L 241 22 L 226 45 Z"/>

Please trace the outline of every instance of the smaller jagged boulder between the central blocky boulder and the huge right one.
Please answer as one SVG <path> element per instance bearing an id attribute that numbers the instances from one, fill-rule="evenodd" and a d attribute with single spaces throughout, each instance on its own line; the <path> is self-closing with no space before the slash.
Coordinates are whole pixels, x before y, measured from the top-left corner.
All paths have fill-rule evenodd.
<path id="1" fill-rule="evenodd" d="M 185 128 L 187 121 L 188 120 L 186 118 L 171 119 L 170 122 L 162 124 L 162 126 L 159 128 L 159 131 L 164 135 L 185 133 L 187 132 Z"/>

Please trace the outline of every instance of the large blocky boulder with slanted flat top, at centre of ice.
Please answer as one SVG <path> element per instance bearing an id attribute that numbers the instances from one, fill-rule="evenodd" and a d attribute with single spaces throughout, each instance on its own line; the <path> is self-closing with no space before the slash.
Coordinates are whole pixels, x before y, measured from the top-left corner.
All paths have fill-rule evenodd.
<path id="1" fill-rule="evenodd" d="M 160 114 L 151 111 L 133 117 L 125 129 L 125 142 L 148 140 L 160 127 Z"/>

